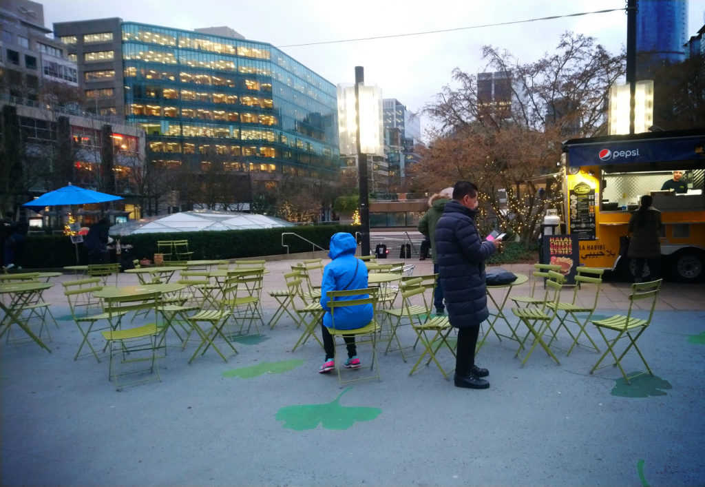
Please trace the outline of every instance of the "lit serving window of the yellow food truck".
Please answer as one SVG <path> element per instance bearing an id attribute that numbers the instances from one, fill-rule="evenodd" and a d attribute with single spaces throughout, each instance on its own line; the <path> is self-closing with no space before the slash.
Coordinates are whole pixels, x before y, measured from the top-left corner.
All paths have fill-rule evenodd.
<path id="1" fill-rule="evenodd" d="M 675 181 L 673 171 L 603 172 L 600 208 L 603 211 L 635 210 L 639 199 L 648 194 L 654 197 L 654 207 L 659 210 L 704 208 L 701 194 L 705 171 L 678 172 L 681 173 L 676 176 L 678 181 Z M 666 188 L 662 189 L 664 186 Z M 679 193 L 673 187 L 680 188 Z"/>

